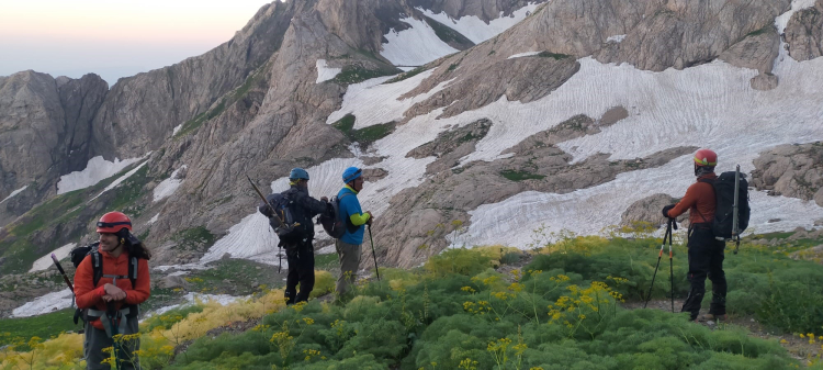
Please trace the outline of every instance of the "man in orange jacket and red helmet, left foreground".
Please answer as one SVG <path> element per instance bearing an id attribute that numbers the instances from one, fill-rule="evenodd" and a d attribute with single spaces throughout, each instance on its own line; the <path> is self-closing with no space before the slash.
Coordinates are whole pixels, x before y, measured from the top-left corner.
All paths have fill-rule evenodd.
<path id="1" fill-rule="evenodd" d="M 110 369 L 102 363 L 109 357 L 103 354 L 106 347 L 120 349 L 115 354 L 120 369 L 138 368 L 134 350 L 139 349 L 139 339 L 114 346 L 112 336 L 138 333 L 137 305 L 150 295 L 151 254 L 132 235 L 132 221 L 121 212 L 104 214 L 97 232 L 100 235 L 97 251 L 92 249 L 75 272 L 77 306 L 86 310 L 86 368 Z M 95 271 L 99 271 L 97 277 Z"/>

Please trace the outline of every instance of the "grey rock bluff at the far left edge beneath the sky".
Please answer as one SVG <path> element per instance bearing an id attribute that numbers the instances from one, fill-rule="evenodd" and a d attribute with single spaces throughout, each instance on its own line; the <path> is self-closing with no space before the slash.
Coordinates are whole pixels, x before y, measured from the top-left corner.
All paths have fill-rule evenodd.
<path id="1" fill-rule="evenodd" d="M 91 119 L 109 90 L 97 75 L 54 79 L 23 71 L 0 80 L 0 226 L 56 192 L 63 173 L 86 166 Z"/>

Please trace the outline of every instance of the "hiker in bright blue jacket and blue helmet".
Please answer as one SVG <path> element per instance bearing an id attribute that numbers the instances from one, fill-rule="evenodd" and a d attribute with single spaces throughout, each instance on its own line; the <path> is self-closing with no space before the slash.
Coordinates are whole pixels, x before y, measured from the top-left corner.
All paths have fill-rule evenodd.
<path id="1" fill-rule="evenodd" d="M 340 200 L 340 215 L 345 218 L 347 225 L 343 236 L 335 240 L 337 255 L 340 259 L 340 278 L 337 279 L 336 287 L 338 298 L 347 294 L 351 284 L 357 280 L 364 226 L 371 226 L 374 220 L 371 212 L 363 213 L 357 197 L 363 190 L 362 172 L 357 167 L 347 168 L 342 173 L 346 186 L 337 193 L 337 199 Z"/>

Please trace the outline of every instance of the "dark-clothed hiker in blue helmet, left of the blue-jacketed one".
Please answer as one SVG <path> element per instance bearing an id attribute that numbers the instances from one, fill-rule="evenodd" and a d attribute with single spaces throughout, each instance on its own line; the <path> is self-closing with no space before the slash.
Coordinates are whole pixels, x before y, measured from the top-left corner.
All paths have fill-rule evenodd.
<path id="1" fill-rule="evenodd" d="M 316 200 L 308 195 L 308 172 L 302 168 L 293 168 L 289 173 L 291 188 L 283 194 L 290 201 L 289 211 L 294 221 L 300 223 L 289 237 L 280 239 L 280 246 L 285 248 L 289 262 L 289 274 L 285 278 L 285 304 L 294 304 L 308 300 L 314 289 L 314 223 L 312 217 L 326 212 L 328 200 L 326 197 Z M 273 195 L 273 194 L 272 194 Z M 272 197 L 269 195 L 269 197 Z M 261 205 L 260 212 L 267 217 L 273 216 L 271 209 Z M 300 292 L 297 292 L 300 283 Z"/>

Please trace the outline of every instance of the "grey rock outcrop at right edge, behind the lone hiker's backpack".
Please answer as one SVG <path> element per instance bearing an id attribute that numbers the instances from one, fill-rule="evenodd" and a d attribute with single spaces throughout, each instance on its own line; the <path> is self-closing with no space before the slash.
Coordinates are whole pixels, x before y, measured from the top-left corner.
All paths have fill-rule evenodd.
<path id="1" fill-rule="evenodd" d="M 823 144 L 780 145 L 755 158 L 751 184 L 823 206 Z"/>

